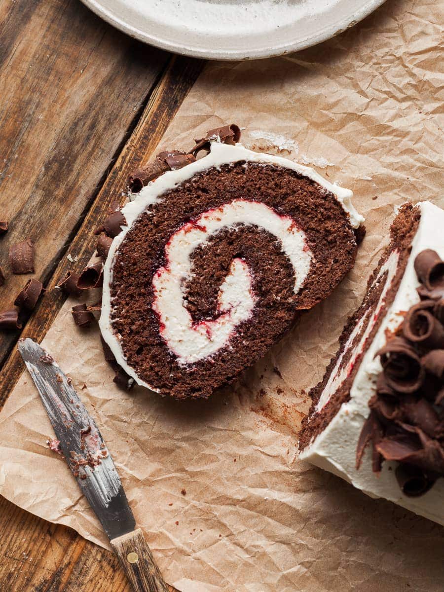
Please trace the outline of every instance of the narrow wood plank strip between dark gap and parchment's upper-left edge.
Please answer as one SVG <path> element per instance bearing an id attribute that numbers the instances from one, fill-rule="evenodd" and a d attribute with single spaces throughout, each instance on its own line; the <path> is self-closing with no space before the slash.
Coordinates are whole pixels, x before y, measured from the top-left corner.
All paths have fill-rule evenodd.
<path id="1" fill-rule="evenodd" d="M 121 155 L 99 191 L 94 204 L 86 214 L 81 229 L 69 244 L 67 253 L 77 259 L 75 263 L 64 257 L 56 271 L 47 282 L 47 293 L 37 305 L 27 325 L 22 330 L 22 337 L 32 337 L 39 342 L 51 326 L 60 307 L 65 301 L 60 290 L 54 289 L 69 269 L 81 271 L 94 252 L 94 230 L 105 217 L 111 201 L 121 199 L 121 192 L 126 189 L 128 174 L 140 162 L 146 162 L 155 151 L 166 127 L 172 120 L 185 95 L 202 69 L 202 62 L 188 58 L 174 57 L 165 75 L 154 89 L 152 96 L 137 124 L 134 133 L 127 141 Z M 52 230 L 51 230 L 52 232 Z M 9 356 L 0 374 L 0 404 L 11 392 L 23 371 L 23 363 L 17 350 Z"/>

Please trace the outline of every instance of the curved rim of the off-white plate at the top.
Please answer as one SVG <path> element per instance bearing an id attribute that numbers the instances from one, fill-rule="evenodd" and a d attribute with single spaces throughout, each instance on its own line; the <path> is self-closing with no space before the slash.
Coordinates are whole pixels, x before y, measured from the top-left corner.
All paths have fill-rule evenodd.
<path id="1" fill-rule="evenodd" d="M 227 52 L 227 50 L 212 49 L 210 51 L 197 46 L 184 46 L 180 43 L 173 43 L 172 41 L 156 37 L 153 33 L 139 30 L 136 27 L 128 25 L 121 18 L 110 14 L 110 12 L 108 12 L 104 7 L 104 2 L 107 2 L 107 0 L 81 0 L 81 2 L 83 2 L 83 4 L 92 12 L 94 12 L 99 18 L 108 22 L 108 24 L 112 25 L 123 33 L 126 33 L 130 37 L 142 41 L 143 43 L 147 43 L 151 46 L 158 47 L 159 49 L 166 50 L 167 52 L 180 54 L 182 56 L 231 62 L 282 56 L 284 54 L 307 49 L 308 47 L 313 47 L 314 45 L 322 43 L 323 41 L 327 41 L 328 39 L 331 39 L 332 37 L 335 37 L 336 35 L 339 35 L 340 33 L 343 33 L 344 31 L 353 27 L 355 24 L 362 21 L 365 17 L 374 12 L 377 8 L 382 6 L 385 1 L 386 0 L 363 0 L 362 6 L 353 12 L 353 14 L 350 14 L 345 20 L 336 24 L 332 24 L 330 27 L 323 28 L 318 33 L 304 39 L 294 40 L 291 43 L 286 43 L 278 47 L 258 47 L 248 51 L 234 50 L 233 52 Z"/>

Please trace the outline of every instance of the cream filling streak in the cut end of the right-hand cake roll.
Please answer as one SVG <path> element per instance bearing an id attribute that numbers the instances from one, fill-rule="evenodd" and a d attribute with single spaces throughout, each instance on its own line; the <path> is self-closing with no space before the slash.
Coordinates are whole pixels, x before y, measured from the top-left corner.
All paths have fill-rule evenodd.
<path id="1" fill-rule="evenodd" d="M 365 314 L 362 315 L 358 323 L 356 323 L 355 328 L 350 333 L 350 336 L 345 344 L 343 352 L 339 356 L 339 358 L 337 358 L 336 365 L 334 366 L 333 371 L 330 374 L 329 380 L 327 381 L 327 384 L 325 385 L 324 390 L 322 391 L 322 394 L 319 397 L 319 401 L 316 406 L 316 411 L 320 411 L 324 407 L 324 405 L 326 405 L 329 402 L 330 397 L 332 397 L 333 393 L 337 391 L 340 385 L 342 385 L 343 381 L 345 381 L 345 379 L 348 377 L 349 373 L 353 369 L 353 366 L 355 365 L 356 359 L 365 348 L 366 340 L 372 332 L 372 329 L 378 320 L 379 313 L 381 313 L 382 307 L 384 306 L 385 297 L 387 296 L 388 289 L 390 288 L 391 282 L 398 269 L 398 261 L 399 253 L 397 250 L 394 250 L 390 253 L 390 256 L 387 258 L 387 261 L 384 263 L 384 265 L 381 265 L 381 269 L 379 269 L 379 273 L 372 284 L 373 287 L 375 284 L 379 282 L 379 280 L 385 274 L 385 272 L 387 272 L 387 277 L 384 280 L 384 288 L 382 288 L 378 303 L 374 310 L 368 308 L 365 311 Z M 361 339 L 353 349 L 353 353 L 350 356 L 349 362 L 341 368 L 344 356 L 350 349 L 350 346 L 356 339 L 356 336 L 359 335 L 359 333 L 361 333 L 362 327 L 364 326 L 369 314 L 372 314 L 372 318 L 368 321 L 368 324 L 365 327 L 365 331 L 362 333 Z"/>

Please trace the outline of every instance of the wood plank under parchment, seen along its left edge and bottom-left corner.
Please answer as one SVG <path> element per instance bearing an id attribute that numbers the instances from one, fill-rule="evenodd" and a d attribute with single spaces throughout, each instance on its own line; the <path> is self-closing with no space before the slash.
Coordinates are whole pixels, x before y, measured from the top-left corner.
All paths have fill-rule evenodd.
<path id="1" fill-rule="evenodd" d="M 81 269 L 94 250 L 92 231 L 108 204 L 121 196 L 130 170 L 146 162 L 202 68 L 202 62 L 173 58 L 156 85 L 134 133 L 85 216 L 64 257 L 48 279 L 47 295 L 28 321 L 23 336 L 43 339 L 65 298 L 54 286 L 68 269 Z M 1 244 L 0 244 L 1 248 Z M 17 351 L 0 374 L 0 404 L 17 382 L 23 366 Z M 32 550 L 32 552 L 30 552 Z M 24 555 L 23 555 L 24 554 Z M 126 577 L 110 552 L 92 545 L 63 526 L 49 525 L 0 498 L 0 590 L 11 592 L 130 592 Z M 31 561 L 30 561 L 31 559 Z M 173 588 L 172 588 L 173 590 Z"/>

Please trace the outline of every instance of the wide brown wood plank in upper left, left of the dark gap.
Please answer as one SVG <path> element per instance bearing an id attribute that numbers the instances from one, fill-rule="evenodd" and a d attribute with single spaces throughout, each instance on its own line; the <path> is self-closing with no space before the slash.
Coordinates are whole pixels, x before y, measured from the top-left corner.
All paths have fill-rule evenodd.
<path id="1" fill-rule="evenodd" d="M 31 238 L 46 283 L 140 118 L 169 54 L 99 20 L 78 0 L 0 4 L 0 310 L 28 276 L 8 247 Z M 17 334 L 0 333 L 0 363 Z"/>

